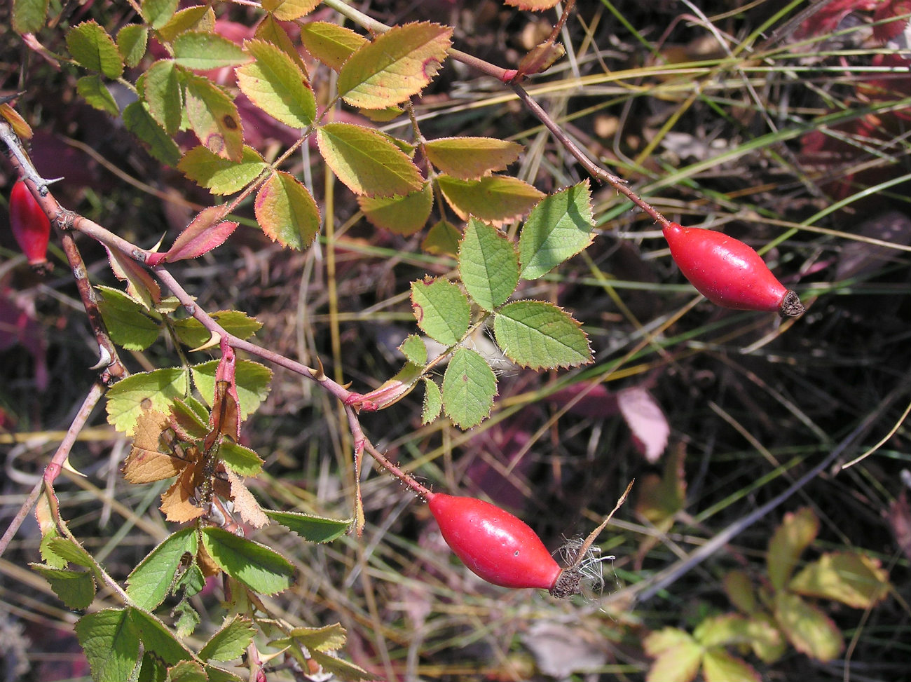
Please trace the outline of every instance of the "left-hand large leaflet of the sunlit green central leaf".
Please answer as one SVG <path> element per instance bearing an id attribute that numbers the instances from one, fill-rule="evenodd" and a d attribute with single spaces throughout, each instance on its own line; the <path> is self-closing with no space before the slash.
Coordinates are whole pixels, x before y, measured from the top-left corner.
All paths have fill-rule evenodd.
<path id="1" fill-rule="evenodd" d="M 411 307 L 417 325 L 444 346 L 455 346 L 468 331 L 471 322 L 468 297 L 443 277 L 412 282 Z"/>

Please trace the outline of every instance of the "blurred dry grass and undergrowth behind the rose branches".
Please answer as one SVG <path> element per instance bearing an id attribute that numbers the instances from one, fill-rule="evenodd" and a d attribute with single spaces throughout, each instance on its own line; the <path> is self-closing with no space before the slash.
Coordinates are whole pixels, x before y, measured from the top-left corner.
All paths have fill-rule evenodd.
<path id="1" fill-rule="evenodd" d="M 359 7 L 387 24 L 449 23 L 455 47 L 503 67 L 515 67 L 555 19 L 491 0 Z M 8 4 L 0 9 L 0 26 L 8 26 L 8 11 Z M 217 11 L 241 33 L 260 15 L 245 5 Z M 785 512 L 809 507 L 820 530 L 801 565 L 863 550 L 888 571 L 890 593 L 869 609 L 817 602 L 844 636 L 832 660 L 793 646 L 773 663 L 745 649 L 732 653 L 762 679 L 905 679 L 911 55 L 907 19 L 884 24 L 901 12 L 907 4 L 861 0 L 578 2 L 561 36 L 567 56 L 529 81 L 529 92 L 671 220 L 763 249 L 801 294 L 806 314 L 782 322 L 697 300 L 657 227 L 616 191 L 594 187 L 595 243 L 518 294 L 568 308 L 589 332 L 595 364 L 560 374 L 503 367 L 493 415 L 468 432 L 445 418 L 422 427 L 419 391 L 363 414 L 362 423 L 380 449 L 435 490 L 495 501 L 555 549 L 589 532 L 636 478 L 631 500 L 601 538 L 602 553 L 617 557 L 604 563 L 603 591 L 560 603 L 480 582 L 448 552 L 425 506 L 364 460 L 362 538 L 314 546 L 275 527 L 253 534 L 300 568 L 299 584 L 275 597 L 275 607 L 306 625 L 341 622 L 345 655 L 378 677 L 639 680 L 652 665 L 647 635 L 669 626 L 691 633 L 732 612 L 725 576 L 739 569 L 767 584 L 773 532 Z M 25 91 L 17 109 L 36 130 L 38 171 L 63 176 L 54 186 L 61 203 L 128 240 L 148 248 L 162 234 L 172 239 L 211 196 L 82 102 L 77 69 L 52 57 L 66 26 L 89 18 L 120 26 L 132 11 L 65 3 L 58 15 L 36 36 L 45 54 L 0 31 L 0 88 Z M 314 16 L 335 15 L 319 8 Z M 542 191 L 585 177 L 511 90 L 462 64 L 447 62 L 415 112 L 427 138 L 522 143 L 526 153 L 510 171 Z M 408 126 L 383 124 L 400 136 Z M 296 139 L 265 121 L 246 129 L 271 158 Z M 395 347 L 415 332 L 408 284 L 450 272 L 453 261 L 423 252 L 421 233 L 374 228 L 340 186 L 327 206 L 327 171 L 316 155 L 304 153 L 287 170 L 312 174 L 314 196 L 338 225 L 331 243 L 321 237 L 306 253 L 281 251 L 247 205 L 228 243 L 172 270 L 207 310 L 257 317 L 261 345 L 311 365 L 318 358 L 331 376 L 370 390 L 401 366 Z M 13 181 L 9 166 L 0 168 L 4 197 Z M 93 282 L 115 285 L 103 249 L 85 239 L 79 245 Z M 97 346 L 59 251 L 53 274 L 36 279 L 0 230 L 0 259 L 5 528 L 82 401 Z M 141 371 L 176 356 L 159 343 L 124 359 Z M 351 515 L 350 434 L 333 398 L 311 382 L 277 371 L 244 438 L 267 461 L 267 473 L 251 481 L 262 501 Z M 836 448 L 842 454 L 832 467 L 650 594 L 657 573 L 742 522 Z M 70 476 L 57 488 L 71 530 L 117 578 L 169 532 L 157 509 L 163 486 L 130 486 L 120 477 L 127 451 L 97 409 L 71 457 L 87 477 Z M 663 488 L 655 482 L 662 475 Z M 37 561 L 39 539 L 36 524 L 26 523 L 0 559 L 2 674 L 83 679 L 77 615 L 26 566 Z M 204 594 L 197 606 L 204 638 L 220 625 L 218 595 Z"/>

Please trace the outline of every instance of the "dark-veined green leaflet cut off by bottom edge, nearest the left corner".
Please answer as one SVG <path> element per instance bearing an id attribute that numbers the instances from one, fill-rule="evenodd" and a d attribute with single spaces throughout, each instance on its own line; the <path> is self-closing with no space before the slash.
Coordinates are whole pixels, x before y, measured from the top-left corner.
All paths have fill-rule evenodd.
<path id="1" fill-rule="evenodd" d="M 139 660 L 139 635 L 127 609 L 105 609 L 82 616 L 76 636 L 86 654 L 92 679 L 123 682 Z"/>

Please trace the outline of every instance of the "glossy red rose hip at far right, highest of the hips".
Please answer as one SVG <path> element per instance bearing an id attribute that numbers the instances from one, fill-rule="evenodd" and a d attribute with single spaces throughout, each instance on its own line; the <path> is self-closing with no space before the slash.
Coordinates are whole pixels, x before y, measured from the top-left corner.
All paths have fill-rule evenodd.
<path id="1" fill-rule="evenodd" d="M 804 313 L 797 294 L 778 281 L 751 246 L 727 234 L 682 227 L 676 222 L 663 232 L 674 262 L 713 304 L 783 317 Z"/>

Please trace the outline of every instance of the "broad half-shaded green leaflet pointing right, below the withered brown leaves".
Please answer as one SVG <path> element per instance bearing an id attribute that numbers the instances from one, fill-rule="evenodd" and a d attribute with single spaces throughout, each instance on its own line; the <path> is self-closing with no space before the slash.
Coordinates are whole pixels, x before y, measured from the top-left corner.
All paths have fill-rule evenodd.
<path id="1" fill-rule="evenodd" d="M 202 544 L 222 571 L 255 592 L 277 594 L 293 584 L 294 567 L 265 545 L 221 528 L 203 528 Z"/>

